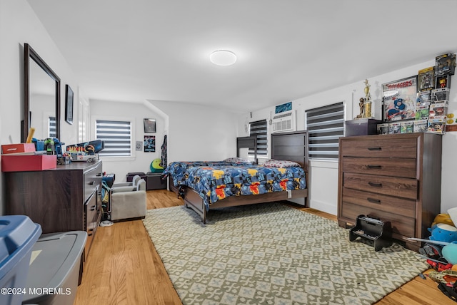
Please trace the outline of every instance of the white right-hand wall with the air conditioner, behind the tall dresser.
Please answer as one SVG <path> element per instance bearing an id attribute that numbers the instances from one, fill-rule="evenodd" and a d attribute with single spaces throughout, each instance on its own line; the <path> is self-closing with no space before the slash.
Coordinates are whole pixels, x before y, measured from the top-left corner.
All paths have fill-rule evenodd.
<path id="1" fill-rule="evenodd" d="M 439 55 L 439 54 L 436 54 Z M 382 92 L 381 85 L 389 81 L 395 81 L 408 76 L 417 75 L 418 70 L 434 66 L 435 58 L 430 61 L 420 63 L 408 68 L 402 68 L 391 73 L 386 73 L 381 76 L 368 78 L 371 85 L 371 98 L 373 100 L 374 115 L 381 120 L 381 103 Z M 343 77 L 343 76 L 342 76 Z M 454 76 L 452 76 L 454 78 Z M 297 129 L 304 130 L 304 112 L 306 109 L 315 108 L 331 103 L 344 101 L 346 103 L 346 120 L 352 120 L 359 113 L 358 99 L 365 96 L 363 88 L 365 80 L 357 83 L 352 83 L 348 86 L 339 88 L 331 88 L 315 95 L 299 98 L 292 101 L 293 109 L 297 111 Z M 451 97 L 449 101 L 448 113 L 457 113 L 457 86 L 452 88 L 453 81 L 451 80 Z M 454 84 L 455 85 L 455 84 Z M 283 103 L 288 102 L 284 100 Z M 274 107 L 268 107 L 257 110 L 252 113 L 252 118 L 249 113 L 238 115 L 238 135 L 247 135 L 244 130 L 244 124 L 253 120 L 261 120 L 270 118 L 270 113 L 274 113 Z M 270 137 L 268 137 L 268 140 Z M 442 175 L 441 175 L 441 212 L 446 212 L 451 207 L 457 207 L 457 197 L 453 194 L 454 177 L 457 169 L 457 132 L 446 133 L 443 135 L 443 156 L 442 156 Z M 338 205 L 338 163 L 335 161 L 311 161 L 309 168 L 310 178 L 310 197 L 309 203 L 311 207 L 318 210 L 337 214 Z M 440 202 L 437 202 L 439 205 Z"/>

